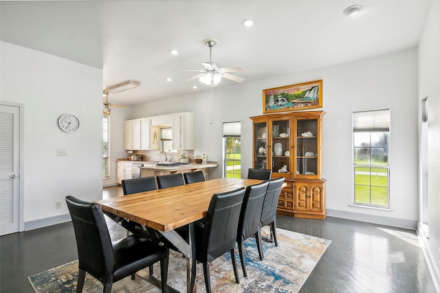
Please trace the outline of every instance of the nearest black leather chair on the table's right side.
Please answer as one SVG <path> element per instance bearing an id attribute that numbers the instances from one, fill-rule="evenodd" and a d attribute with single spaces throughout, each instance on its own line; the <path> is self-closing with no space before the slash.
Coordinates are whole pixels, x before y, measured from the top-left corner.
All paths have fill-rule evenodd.
<path id="1" fill-rule="evenodd" d="M 230 252 L 235 281 L 240 283 L 236 268 L 235 242 L 241 204 L 245 189 L 214 194 L 210 200 L 205 222 L 195 224 L 195 255 L 192 257 L 190 292 L 193 292 L 196 260 L 203 263 L 206 292 L 211 292 L 209 263 L 226 252 Z"/>

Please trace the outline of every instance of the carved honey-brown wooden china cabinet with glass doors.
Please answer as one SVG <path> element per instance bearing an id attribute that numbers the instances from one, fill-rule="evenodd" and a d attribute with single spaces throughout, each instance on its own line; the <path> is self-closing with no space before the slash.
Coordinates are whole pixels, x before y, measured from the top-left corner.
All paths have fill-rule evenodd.
<path id="1" fill-rule="evenodd" d="M 278 213 L 324 219 L 322 117 L 324 111 L 289 112 L 250 117 L 253 122 L 253 165 L 285 177 Z"/>

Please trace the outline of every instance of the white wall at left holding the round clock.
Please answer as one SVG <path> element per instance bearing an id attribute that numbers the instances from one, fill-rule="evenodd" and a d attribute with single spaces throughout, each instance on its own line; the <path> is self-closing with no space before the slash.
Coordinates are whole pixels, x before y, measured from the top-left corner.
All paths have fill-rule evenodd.
<path id="1" fill-rule="evenodd" d="M 65 196 L 102 197 L 102 70 L 10 43 L 0 46 L 1 101 L 24 105 L 23 220 L 25 228 L 44 226 L 44 219 L 69 213 Z M 77 132 L 58 128 L 63 113 L 78 116 Z M 67 156 L 56 156 L 56 149 L 66 149 Z"/>

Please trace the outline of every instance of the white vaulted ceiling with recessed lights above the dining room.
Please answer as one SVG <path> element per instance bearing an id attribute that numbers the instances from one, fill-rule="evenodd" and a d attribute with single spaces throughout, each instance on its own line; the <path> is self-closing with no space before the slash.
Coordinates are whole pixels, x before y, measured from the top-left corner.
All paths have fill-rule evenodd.
<path id="1" fill-rule="evenodd" d="M 183 69 L 209 60 L 243 67 L 245 82 L 417 47 L 428 0 L 1 1 L 0 38 L 103 69 L 115 104 L 206 91 Z M 360 14 L 342 13 L 362 4 Z M 241 21 L 252 18 L 254 27 Z M 170 49 L 180 54 L 172 56 Z M 177 71 L 175 71 L 177 70 Z M 173 82 L 166 82 L 173 78 Z M 199 89 L 192 89 L 193 85 Z M 223 79 L 220 86 L 234 84 Z"/>

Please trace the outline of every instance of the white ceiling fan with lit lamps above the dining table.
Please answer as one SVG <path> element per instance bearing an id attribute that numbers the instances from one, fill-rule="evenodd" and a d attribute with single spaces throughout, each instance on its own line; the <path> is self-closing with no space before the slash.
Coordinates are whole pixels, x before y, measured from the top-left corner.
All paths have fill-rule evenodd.
<path id="1" fill-rule="evenodd" d="M 214 39 L 206 39 L 202 42 L 204 45 L 209 47 L 209 62 L 201 62 L 201 69 L 195 70 L 186 70 L 186 71 L 196 71 L 199 74 L 192 76 L 186 80 L 187 82 L 191 80 L 195 80 L 199 78 L 203 84 L 207 84 L 210 86 L 217 86 L 221 81 L 221 78 L 227 78 L 228 80 L 233 80 L 234 82 L 244 82 L 245 79 L 240 76 L 230 74 L 229 72 L 243 72 L 245 71 L 241 67 L 220 67 L 220 65 L 216 62 L 212 62 L 211 60 L 211 51 L 214 45 L 219 43 L 218 40 Z"/>

